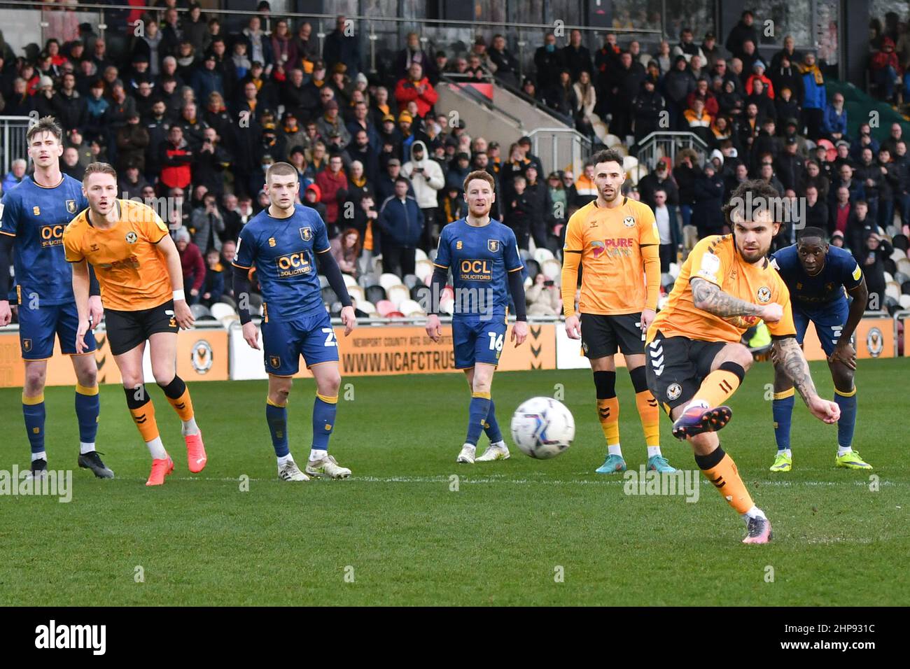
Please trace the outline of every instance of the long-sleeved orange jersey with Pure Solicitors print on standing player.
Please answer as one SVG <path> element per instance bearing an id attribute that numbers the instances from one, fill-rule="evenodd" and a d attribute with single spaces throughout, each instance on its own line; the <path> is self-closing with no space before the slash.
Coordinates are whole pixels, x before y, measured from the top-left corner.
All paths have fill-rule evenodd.
<path id="1" fill-rule="evenodd" d="M 616 208 L 588 203 L 569 219 L 562 251 L 562 309 L 575 313 L 575 286 L 581 262 L 578 310 L 586 314 L 630 314 L 656 309 L 660 294 L 661 244 L 654 212 L 622 198 Z M 648 266 L 650 274 L 646 281 Z"/>

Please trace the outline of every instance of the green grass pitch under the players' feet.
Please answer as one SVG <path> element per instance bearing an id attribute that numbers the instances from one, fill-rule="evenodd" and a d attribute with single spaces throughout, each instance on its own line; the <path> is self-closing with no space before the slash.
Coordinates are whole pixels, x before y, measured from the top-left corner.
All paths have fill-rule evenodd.
<path id="1" fill-rule="evenodd" d="M 830 397 L 824 363 L 812 368 Z M 740 542 L 743 522 L 707 481 L 689 503 L 625 495 L 621 478 L 595 474 L 604 446 L 589 371 L 498 374 L 493 397 L 507 435 L 521 400 L 562 384 L 576 439 L 555 460 L 512 448 L 510 461 L 472 466 L 455 463 L 468 399 L 460 375 L 343 380 L 331 451 L 353 477 L 302 484 L 276 477 L 265 381 L 191 387 L 209 458 L 198 475 L 187 471 L 177 416 L 155 388 L 177 469 L 154 490 L 144 485 L 149 456 L 122 390 L 101 391 L 98 450 L 116 480 L 98 481 L 76 468 L 73 390 L 48 389 L 49 467 L 75 470 L 73 499 L 0 496 L 0 604 L 906 605 L 908 378 L 910 360 L 859 365 L 854 446 L 875 466 L 873 492 L 869 472 L 834 468 L 836 428 L 799 401 L 794 471 L 767 471 L 772 372 L 753 367 L 721 437 L 773 522 L 765 546 Z M 352 400 L 343 399 L 348 383 Z M 617 385 L 623 454 L 637 470 L 644 444 L 622 371 Z M 0 390 L 3 470 L 28 462 L 19 397 Z M 312 398 L 312 382 L 298 381 L 288 429 L 299 462 Z M 695 469 L 669 421 L 661 441 L 672 464 Z"/>

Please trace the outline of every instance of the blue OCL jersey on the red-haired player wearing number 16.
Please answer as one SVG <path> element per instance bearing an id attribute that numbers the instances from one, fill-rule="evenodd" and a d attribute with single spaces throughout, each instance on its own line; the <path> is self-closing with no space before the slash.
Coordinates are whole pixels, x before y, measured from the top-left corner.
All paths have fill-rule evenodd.
<path id="1" fill-rule="evenodd" d="M 490 218 L 482 228 L 464 218 L 442 228 L 436 267 L 451 269 L 456 316 L 505 316 L 509 272 L 523 269 L 512 229 Z"/>

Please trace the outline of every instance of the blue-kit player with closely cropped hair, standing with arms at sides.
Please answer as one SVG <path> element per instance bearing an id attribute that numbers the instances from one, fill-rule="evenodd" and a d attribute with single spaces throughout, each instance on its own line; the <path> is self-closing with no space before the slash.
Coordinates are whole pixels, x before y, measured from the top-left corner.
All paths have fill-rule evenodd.
<path id="1" fill-rule="evenodd" d="M 249 270 L 256 269 L 263 297 L 262 343 L 268 373 L 266 421 L 278 458 L 278 478 L 345 479 L 350 470 L 329 455 L 341 376 L 338 341 L 322 301 L 317 267 L 341 301 L 345 336 L 357 324 L 354 308 L 338 263 L 329 253 L 325 223 L 316 209 L 297 204 L 297 169 L 288 163 L 273 164 L 266 172 L 265 188 L 270 200 L 268 208 L 240 231 L 233 262 L 234 289 L 243 337 L 249 346 L 258 349 L 256 324 L 249 313 Z M 313 441 L 306 473 L 300 471 L 288 447 L 288 394 L 301 354 L 316 380 Z"/>

